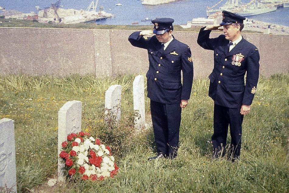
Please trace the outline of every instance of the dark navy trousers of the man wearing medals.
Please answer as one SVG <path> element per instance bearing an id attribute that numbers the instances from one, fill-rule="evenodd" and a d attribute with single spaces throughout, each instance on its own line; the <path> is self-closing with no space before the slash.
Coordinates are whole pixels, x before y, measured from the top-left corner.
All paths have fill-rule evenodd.
<path id="1" fill-rule="evenodd" d="M 230 126 L 231 145 L 230 153 L 233 158 L 239 159 L 242 139 L 242 123 L 244 115 L 240 114 L 240 108 L 228 108 L 214 105 L 214 134 L 213 158 L 225 155 L 228 127 Z"/>

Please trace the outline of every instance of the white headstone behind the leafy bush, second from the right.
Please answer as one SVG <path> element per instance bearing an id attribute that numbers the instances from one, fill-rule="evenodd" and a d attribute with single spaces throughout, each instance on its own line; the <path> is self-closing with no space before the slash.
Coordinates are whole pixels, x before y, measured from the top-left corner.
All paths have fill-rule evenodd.
<path id="1" fill-rule="evenodd" d="M 115 123 L 120 121 L 120 101 L 121 101 L 121 85 L 112 85 L 105 93 L 105 108 L 110 111 L 106 112 L 106 116 L 115 118 Z"/>

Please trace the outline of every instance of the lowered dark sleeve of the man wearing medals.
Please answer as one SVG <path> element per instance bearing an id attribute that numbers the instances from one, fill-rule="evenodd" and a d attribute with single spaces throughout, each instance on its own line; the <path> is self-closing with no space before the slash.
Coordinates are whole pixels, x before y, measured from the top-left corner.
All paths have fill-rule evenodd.
<path id="1" fill-rule="evenodd" d="M 247 76 L 242 104 L 251 105 L 255 96 L 259 79 L 259 60 L 260 55 L 256 47 L 252 49 L 247 58 Z"/>

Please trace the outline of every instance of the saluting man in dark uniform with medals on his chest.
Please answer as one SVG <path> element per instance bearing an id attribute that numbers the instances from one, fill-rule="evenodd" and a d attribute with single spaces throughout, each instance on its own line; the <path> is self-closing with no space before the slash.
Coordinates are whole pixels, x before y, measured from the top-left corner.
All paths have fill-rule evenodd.
<path id="1" fill-rule="evenodd" d="M 227 11 L 222 15 L 220 25 L 200 29 L 197 42 L 214 50 L 214 69 L 209 75 L 209 96 L 214 100 L 213 158 L 224 156 L 230 126 L 230 157 L 234 162 L 240 156 L 243 118 L 250 112 L 257 88 L 260 56 L 256 46 L 241 35 L 245 17 Z M 212 30 L 222 30 L 224 35 L 209 38 Z"/>

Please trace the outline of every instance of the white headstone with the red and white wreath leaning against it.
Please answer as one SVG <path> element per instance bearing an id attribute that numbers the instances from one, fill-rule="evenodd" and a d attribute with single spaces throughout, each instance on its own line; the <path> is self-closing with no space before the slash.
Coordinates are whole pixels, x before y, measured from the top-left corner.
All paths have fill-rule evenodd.
<path id="1" fill-rule="evenodd" d="M 61 152 L 61 144 L 67 141 L 67 135 L 81 131 L 81 101 L 68 101 L 58 111 L 58 155 Z M 63 168 L 65 164 L 58 156 L 58 181 L 65 181 Z"/>

